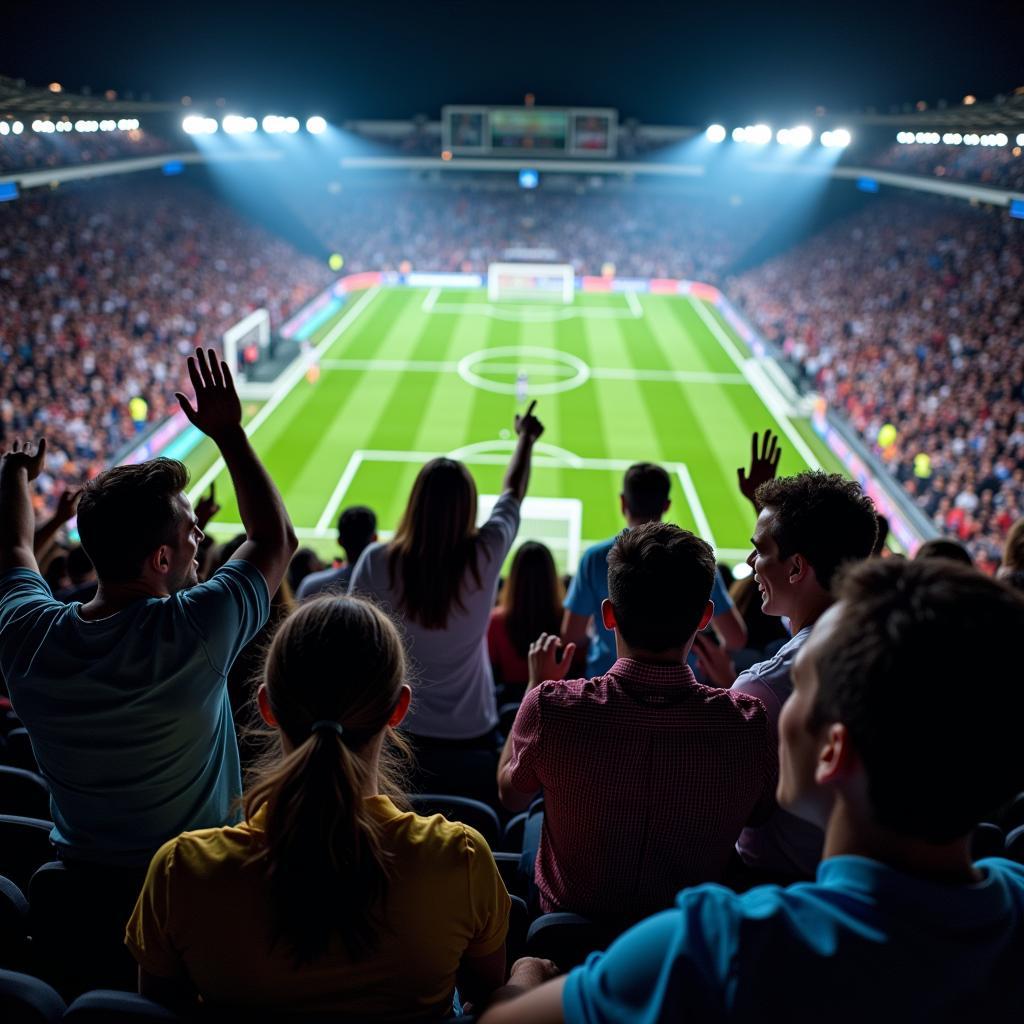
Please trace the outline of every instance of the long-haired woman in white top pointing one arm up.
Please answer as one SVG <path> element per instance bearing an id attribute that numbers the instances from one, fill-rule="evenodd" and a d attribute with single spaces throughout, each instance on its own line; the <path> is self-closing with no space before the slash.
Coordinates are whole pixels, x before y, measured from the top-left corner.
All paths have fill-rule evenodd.
<path id="1" fill-rule="evenodd" d="M 400 615 L 419 692 L 407 726 L 417 749 L 416 783 L 493 802 L 498 760 L 495 677 L 487 624 L 498 578 L 519 529 L 534 444 L 544 426 L 530 402 L 515 418 L 517 441 L 502 495 L 476 527 L 476 484 L 452 459 L 420 470 L 388 544 L 371 544 L 349 590 Z"/>

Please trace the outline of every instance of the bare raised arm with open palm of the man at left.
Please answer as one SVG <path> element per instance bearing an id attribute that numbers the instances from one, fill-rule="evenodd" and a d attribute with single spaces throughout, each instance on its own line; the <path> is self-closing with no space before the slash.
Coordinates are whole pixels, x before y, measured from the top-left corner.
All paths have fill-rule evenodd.
<path id="1" fill-rule="evenodd" d="M 195 357 L 188 356 L 188 376 L 196 408 L 183 394 L 175 397 L 189 423 L 220 449 L 246 530 L 246 542 L 232 557 L 252 562 L 273 594 L 299 546 L 288 510 L 242 429 L 242 402 L 227 364 L 213 349 L 207 354 L 198 348 Z"/>

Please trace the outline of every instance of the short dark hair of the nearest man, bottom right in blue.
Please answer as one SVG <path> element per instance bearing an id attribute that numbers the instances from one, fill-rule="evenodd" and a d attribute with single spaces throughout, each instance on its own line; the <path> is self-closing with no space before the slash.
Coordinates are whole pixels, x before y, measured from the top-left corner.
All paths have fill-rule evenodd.
<path id="1" fill-rule="evenodd" d="M 931 843 L 966 836 L 1024 790 L 1009 713 L 1024 600 L 939 559 L 871 559 L 844 570 L 836 590 L 814 728 L 846 725 L 879 824 Z"/>

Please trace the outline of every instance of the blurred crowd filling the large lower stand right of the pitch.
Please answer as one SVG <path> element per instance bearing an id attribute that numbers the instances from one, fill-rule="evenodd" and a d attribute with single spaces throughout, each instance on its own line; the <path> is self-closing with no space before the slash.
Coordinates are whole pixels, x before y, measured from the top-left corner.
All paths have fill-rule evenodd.
<path id="1" fill-rule="evenodd" d="M 886 201 L 730 289 L 939 530 L 994 568 L 1024 511 L 1024 223 Z"/>

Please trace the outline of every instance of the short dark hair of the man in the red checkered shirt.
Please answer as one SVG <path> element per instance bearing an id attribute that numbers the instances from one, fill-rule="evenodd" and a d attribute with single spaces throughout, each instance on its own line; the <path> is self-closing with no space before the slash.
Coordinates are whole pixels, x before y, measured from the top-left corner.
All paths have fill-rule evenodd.
<path id="1" fill-rule="evenodd" d="M 686 643 L 700 625 L 714 582 L 709 545 L 671 522 L 624 530 L 608 552 L 608 599 L 618 632 L 640 650 Z"/>

